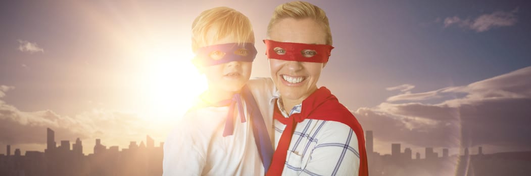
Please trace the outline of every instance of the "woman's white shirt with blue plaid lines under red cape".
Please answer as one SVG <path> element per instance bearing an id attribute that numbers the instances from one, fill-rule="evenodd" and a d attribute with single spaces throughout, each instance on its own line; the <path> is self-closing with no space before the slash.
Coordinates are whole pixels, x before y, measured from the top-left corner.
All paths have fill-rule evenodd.
<path id="1" fill-rule="evenodd" d="M 284 117 L 301 113 L 302 104 L 299 104 L 288 114 L 278 91 L 270 104 L 274 105 L 275 100 Z M 286 125 L 275 120 L 274 126 L 276 149 Z M 358 141 L 348 125 L 304 119 L 295 127 L 282 175 L 358 175 L 358 169 Z"/>

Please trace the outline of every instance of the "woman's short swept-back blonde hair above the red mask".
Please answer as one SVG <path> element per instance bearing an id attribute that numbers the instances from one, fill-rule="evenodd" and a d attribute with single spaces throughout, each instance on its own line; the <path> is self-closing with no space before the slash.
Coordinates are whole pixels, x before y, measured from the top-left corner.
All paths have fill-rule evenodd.
<path id="1" fill-rule="evenodd" d="M 326 34 L 326 44 L 332 45 L 332 33 L 330 32 L 330 24 L 328 23 L 327 14 L 313 4 L 303 1 L 294 1 L 289 3 L 280 4 L 275 8 L 273 16 L 267 26 L 267 36 L 271 33 L 271 27 L 278 21 L 284 18 L 294 18 L 296 20 L 302 20 L 305 18 L 311 18 L 323 27 Z"/>

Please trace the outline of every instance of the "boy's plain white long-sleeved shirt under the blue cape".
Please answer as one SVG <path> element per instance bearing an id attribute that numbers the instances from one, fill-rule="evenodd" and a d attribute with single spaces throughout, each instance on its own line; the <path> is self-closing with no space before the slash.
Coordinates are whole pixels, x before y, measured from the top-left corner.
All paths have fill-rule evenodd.
<path id="1" fill-rule="evenodd" d="M 247 84 L 260 109 L 268 109 L 261 112 L 272 137 L 272 107 L 268 106 L 272 92 L 265 90 L 271 85 L 269 78 Z M 246 122 L 241 123 L 236 108 L 233 135 L 225 137 L 222 134 L 229 107 L 190 109 L 164 143 L 162 175 L 264 175 L 250 115 L 243 104 Z"/>

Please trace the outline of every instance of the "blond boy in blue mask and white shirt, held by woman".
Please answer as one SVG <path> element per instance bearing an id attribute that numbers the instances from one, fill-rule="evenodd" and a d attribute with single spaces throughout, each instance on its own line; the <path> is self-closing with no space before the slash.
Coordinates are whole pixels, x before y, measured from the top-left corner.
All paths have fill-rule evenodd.
<path id="1" fill-rule="evenodd" d="M 193 62 L 208 89 L 168 136 L 163 175 L 264 175 L 272 115 L 264 114 L 264 121 L 245 86 L 256 55 L 249 19 L 232 8 L 212 8 L 195 18 L 192 35 Z"/>

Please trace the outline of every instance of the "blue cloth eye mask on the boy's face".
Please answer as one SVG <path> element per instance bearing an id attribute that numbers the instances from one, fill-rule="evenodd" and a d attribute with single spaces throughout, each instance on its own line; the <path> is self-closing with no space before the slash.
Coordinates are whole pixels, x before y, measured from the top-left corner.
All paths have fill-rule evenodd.
<path id="1" fill-rule="evenodd" d="M 232 61 L 252 62 L 256 57 L 256 48 L 252 43 L 225 43 L 201 47 L 195 54 L 194 64 L 214 66 Z"/>

